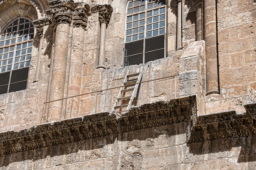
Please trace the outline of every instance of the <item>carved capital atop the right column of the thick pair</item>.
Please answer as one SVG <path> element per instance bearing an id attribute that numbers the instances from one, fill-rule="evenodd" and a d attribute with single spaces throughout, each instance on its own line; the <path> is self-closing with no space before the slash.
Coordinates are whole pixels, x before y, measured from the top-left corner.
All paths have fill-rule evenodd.
<path id="1" fill-rule="evenodd" d="M 73 11 L 73 25 L 76 27 L 83 27 L 86 29 L 88 23 L 88 16 L 91 13 L 91 8 L 86 3 L 75 3 Z"/>

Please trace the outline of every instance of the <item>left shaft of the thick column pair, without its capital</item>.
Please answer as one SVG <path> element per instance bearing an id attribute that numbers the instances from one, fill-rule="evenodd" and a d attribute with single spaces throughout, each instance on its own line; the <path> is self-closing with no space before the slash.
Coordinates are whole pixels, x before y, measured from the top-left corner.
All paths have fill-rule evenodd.
<path id="1" fill-rule="evenodd" d="M 51 121 L 61 120 L 63 99 L 66 81 L 67 57 L 69 47 L 70 25 L 68 23 L 59 23 L 56 26 L 55 48 L 53 71 L 51 79 L 49 115 Z"/>

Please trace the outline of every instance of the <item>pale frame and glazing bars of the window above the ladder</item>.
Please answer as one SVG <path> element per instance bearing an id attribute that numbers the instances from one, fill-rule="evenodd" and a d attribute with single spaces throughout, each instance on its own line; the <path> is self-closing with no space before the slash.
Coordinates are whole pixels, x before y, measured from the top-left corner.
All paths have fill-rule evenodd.
<path id="1" fill-rule="evenodd" d="M 166 4 L 166 0 L 165 0 L 165 4 L 163 5 L 163 6 L 158 6 L 158 7 L 156 7 L 156 8 L 151 8 L 151 9 L 147 9 L 147 2 L 149 1 L 149 0 L 145 0 L 145 10 L 144 11 L 138 11 L 138 12 L 136 12 L 136 13 L 131 13 L 131 14 L 128 14 L 128 5 L 129 5 L 129 3 L 130 3 L 130 1 L 132 1 L 132 2 L 134 2 L 134 1 L 136 1 L 136 0 L 128 0 L 127 1 L 127 4 L 126 4 L 126 8 L 125 8 L 125 29 L 124 29 L 124 45 L 123 45 L 123 49 L 124 49 L 124 55 L 123 55 L 123 66 L 125 67 L 125 57 L 129 57 L 129 56 L 125 56 L 125 45 L 127 44 L 127 43 L 130 43 L 130 42 L 135 42 L 135 41 L 139 41 L 139 40 L 143 40 L 143 62 L 142 62 L 142 64 L 145 64 L 145 53 L 148 53 L 148 52 L 151 52 L 151 51 L 156 51 L 156 50 L 151 50 L 151 51 L 145 51 L 145 42 L 146 42 L 146 40 L 147 39 L 150 39 L 150 38 L 153 38 L 153 37 L 157 37 L 157 36 L 160 36 L 160 35 L 164 35 L 164 57 L 163 58 L 166 58 L 166 49 L 167 49 L 167 47 L 166 47 L 166 45 L 167 45 L 167 42 L 166 42 L 166 37 L 167 37 L 167 4 Z M 154 3 L 154 1 L 156 1 L 156 0 L 152 0 L 152 3 Z M 158 0 L 158 2 L 160 3 L 161 2 L 161 0 Z M 139 6 L 141 6 L 141 5 L 139 5 Z M 137 7 L 137 6 L 136 6 Z M 131 7 L 132 9 L 134 8 L 134 6 L 132 6 Z M 149 37 L 146 37 L 146 34 L 147 34 L 147 12 L 149 12 L 149 11 L 152 11 L 152 13 L 153 13 L 153 10 L 155 10 L 155 9 L 161 9 L 161 8 L 165 8 L 165 12 L 164 13 L 159 13 L 157 16 L 160 16 L 161 14 L 165 14 L 165 19 L 164 19 L 164 22 L 165 22 L 165 26 L 164 26 L 164 33 L 162 33 L 162 34 L 157 34 L 157 35 L 152 35 L 152 36 L 149 36 Z M 138 35 L 138 38 L 137 38 L 137 40 L 135 40 L 135 41 L 132 41 L 132 35 L 133 34 L 130 34 L 130 35 L 128 35 L 128 36 L 131 36 L 131 41 L 128 41 L 127 42 L 127 30 L 129 30 L 129 29 L 133 29 L 133 27 L 131 27 L 131 28 L 128 28 L 127 29 L 127 24 L 128 24 L 128 21 L 127 21 L 127 19 L 128 19 L 128 17 L 129 16 L 133 16 L 133 15 L 136 15 L 136 14 L 141 14 L 141 13 L 145 13 L 145 17 L 144 17 L 144 38 L 142 38 L 142 39 L 139 39 L 139 30 L 138 30 L 138 33 L 137 33 L 137 35 Z M 152 14 L 152 20 L 153 20 L 153 17 L 154 17 L 154 15 Z M 149 17 L 150 18 L 150 17 Z M 140 18 L 138 19 L 138 21 L 140 20 Z M 163 21 L 163 20 L 162 20 Z M 133 20 L 131 21 L 131 23 L 133 22 Z M 158 21 L 158 22 L 155 22 L 155 23 L 160 23 L 161 21 Z M 152 25 L 154 24 L 154 22 L 152 21 Z M 139 25 L 137 26 L 137 28 L 139 29 Z M 159 30 L 161 27 L 159 26 L 157 29 Z M 151 31 L 153 32 L 153 30 L 157 30 L 157 29 L 153 29 L 153 27 L 152 27 L 152 29 L 151 29 Z M 159 32 L 159 31 L 158 31 Z M 152 33 L 153 34 L 153 33 Z M 161 49 L 163 49 L 163 48 L 161 48 Z M 159 49 L 157 49 L 157 50 L 159 50 Z M 141 53 L 138 53 L 138 54 L 141 54 Z M 132 56 L 132 55 L 131 55 Z M 154 61 L 154 60 L 153 60 Z M 130 66 L 130 65 L 128 65 L 128 66 Z"/>

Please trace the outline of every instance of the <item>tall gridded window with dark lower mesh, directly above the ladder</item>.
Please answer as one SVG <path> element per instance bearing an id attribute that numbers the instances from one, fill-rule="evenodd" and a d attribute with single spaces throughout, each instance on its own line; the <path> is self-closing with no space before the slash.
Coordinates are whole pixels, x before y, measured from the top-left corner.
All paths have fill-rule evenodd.
<path id="1" fill-rule="evenodd" d="M 129 0 L 126 8 L 124 66 L 165 57 L 165 0 Z"/>

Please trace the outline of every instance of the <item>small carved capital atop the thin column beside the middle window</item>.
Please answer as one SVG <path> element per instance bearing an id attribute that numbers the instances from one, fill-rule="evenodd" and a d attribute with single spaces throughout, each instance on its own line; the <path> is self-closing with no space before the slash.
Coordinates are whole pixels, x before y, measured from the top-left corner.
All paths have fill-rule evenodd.
<path id="1" fill-rule="evenodd" d="M 110 4 L 94 5 L 92 7 L 92 12 L 99 12 L 100 23 L 106 23 L 106 25 L 109 24 L 112 11 L 113 8 Z"/>

